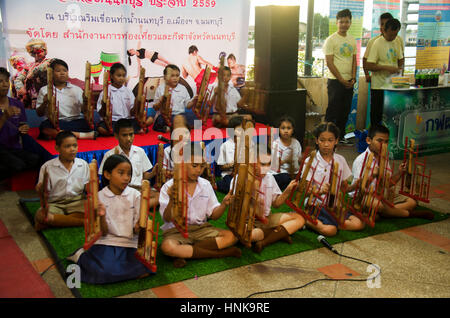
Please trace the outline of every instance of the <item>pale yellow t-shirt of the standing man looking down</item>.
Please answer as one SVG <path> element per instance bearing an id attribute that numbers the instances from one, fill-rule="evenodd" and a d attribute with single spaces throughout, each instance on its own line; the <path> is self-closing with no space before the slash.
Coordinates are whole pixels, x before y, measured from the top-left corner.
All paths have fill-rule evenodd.
<path id="1" fill-rule="evenodd" d="M 403 46 L 399 41 L 386 41 L 382 36 L 373 42 L 367 62 L 379 65 L 398 66 L 398 61 L 403 59 Z M 380 89 L 386 84 L 386 79 L 391 74 L 387 71 L 372 72 L 372 88 Z"/>

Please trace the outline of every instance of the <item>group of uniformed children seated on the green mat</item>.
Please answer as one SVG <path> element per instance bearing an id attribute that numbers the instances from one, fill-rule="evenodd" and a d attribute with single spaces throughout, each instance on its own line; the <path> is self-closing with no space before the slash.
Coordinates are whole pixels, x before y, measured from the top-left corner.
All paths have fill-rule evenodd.
<path id="1" fill-rule="evenodd" d="M 159 212 L 164 225 L 161 251 L 173 258 L 175 267 L 186 265 L 186 259 L 216 258 L 216 257 L 240 257 L 241 249 L 234 246 L 238 239 L 235 234 L 223 228 L 212 226 L 208 220 L 220 218 L 230 203 L 234 200 L 232 193 L 233 177 L 231 175 L 234 164 L 233 146 L 234 136 L 221 145 L 218 165 L 227 172 L 220 184 L 219 191 L 226 193 L 222 202 L 219 202 L 211 183 L 202 178 L 205 170 L 204 152 L 199 143 L 191 143 L 189 128 L 186 118 L 175 116 L 174 123 L 177 128 L 186 130 L 183 142 L 188 140 L 190 145 L 190 161 L 186 162 L 187 171 L 187 223 L 188 237 L 185 238 L 175 228 L 173 223 L 173 179 L 169 179 L 160 192 L 154 190 L 150 198 L 150 207 L 159 205 Z M 230 119 L 229 127 L 235 129 L 238 134 L 243 126 L 243 118 L 236 116 Z M 261 213 L 268 222 L 255 220 L 251 232 L 252 250 L 260 253 L 267 245 L 277 241 L 292 243 L 290 235 L 308 226 L 316 232 L 326 236 L 333 236 L 338 231 L 338 224 L 322 210 L 316 225 L 305 221 L 298 213 L 271 213 L 271 208 L 277 208 L 284 204 L 292 191 L 297 187 L 298 181 L 292 178 L 292 173 L 298 172 L 301 157 L 301 146 L 293 137 L 295 128 L 291 118 L 283 117 L 280 120 L 280 136 L 272 145 L 265 145 L 267 153 L 259 152 L 257 164 L 261 171 L 260 198 L 258 205 Z M 145 152 L 133 145 L 134 129 L 130 119 L 120 119 L 114 127 L 114 135 L 118 145 L 108 151 L 100 165 L 99 174 L 102 175 L 104 188 L 99 192 L 99 215 L 101 216 L 101 228 L 103 236 L 93 247 L 85 251 L 83 248 L 76 250 L 68 259 L 77 263 L 82 271 L 82 281 L 88 283 L 110 283 L 121 280 L 144 277 L 151 272 L 143 266 L 135 257 L 137 248 L 137 233 L 139 229 L 138 216 L 140 207 L 139 189 L 143 179 L 151 179 L 155 175 L 155 168 L 148 160 Z M 362 168 L 361 154 L 353 163 L 353 174 L 343 156 L 336 154 L 336 146 L 339 141 L 339 130 L 333 123 L 322 123 L 314 131 L 317 155 L 313 166 L 317 167 L 315 180 L 329 180 L 331 164 L 339 163 L 339 172 L 343 180 L 350 183 L 353 175 L 353 183 L 347 187 L 347 192 L 354 191 L 359 181 L 359 171 Z M 379 157 L 381 143 L 387 143 L 389 132 L 383 126 L 374 126 L 367 137 L 369 144 L 367 152 L 373 152 Z M 173 155 L 169 156 L 178 140 L 174 140 L 171 149 L 166 153 L 166 169 L 173 169 Z M 186 143 L 187 144 L 187 143 Z M 262 147 L 261 144 L 257 145 Z M 48 214 L 44 215 L 40 209 L 35 216 L 36 229 L 41 230 L 47 226 L 82 226 L 84 215 L 84 187 L 89 182 L 88 164 L 76 158 L 77 138 L 70 131 L 63 131 L 56 136 L 56 147 L 59 156 L 48 161 L 40 171 L 39 183 L 36 186 L 42 191 L 42 175 L 44 169 L 49 173 L 50 182 Z M 200 148 L 199 148 L 200 147 Z M 273 152 L 273 154 L 271 154 Z M 275 161 L 275 163 L 274 163 Z M 375 160 L 375 162 L 377 162 Z M 377 163 L 375 163 L 377 164 Z M 289 165 L 293 165 L 291 169 Z M 399 174 L 394 176 L 398 181 L 404 173 L 405 167 L 401 166 Z M 308 176 L 311 179 L 310 176 Z M 221 184 L 221 182 L 223 184 Z M 319 189 L 323 196 L 329 190 L 330 185 L 324 183 Z M 136 189 L 135 189 L 136 188 Z M 284 188 L 283 190 L 281 188 Z M 433 214 L 428 211 L 417 211 L 416 201 L 410 198 L 396 199 L 394 207 L 382 204 L 380 214 L 387 217 L 421 217 L 432 219 Z M 348 213 L 345 221 L 345 229 L 357 231 L 364 228 L 364 223 L 357 217 Z"/>

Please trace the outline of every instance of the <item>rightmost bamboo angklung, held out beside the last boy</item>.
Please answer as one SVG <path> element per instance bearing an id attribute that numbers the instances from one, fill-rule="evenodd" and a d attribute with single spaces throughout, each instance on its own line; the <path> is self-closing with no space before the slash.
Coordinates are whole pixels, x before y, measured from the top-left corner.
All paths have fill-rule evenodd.
<path id="1" fill-rule="evenodd" d="M 428 174 L 426 173 L 426 158 L 423 161 L 418 160 L 419 146 L 416 145 L 416 149 L 414 149 L 414 139 L 410 140 L 409 147 L 408 137 L 405 139 L 403 163 L 407 163 L 407 169 L 402 176 L 399 193 L 414 200 L 429 203 L 431 170 Z"/>

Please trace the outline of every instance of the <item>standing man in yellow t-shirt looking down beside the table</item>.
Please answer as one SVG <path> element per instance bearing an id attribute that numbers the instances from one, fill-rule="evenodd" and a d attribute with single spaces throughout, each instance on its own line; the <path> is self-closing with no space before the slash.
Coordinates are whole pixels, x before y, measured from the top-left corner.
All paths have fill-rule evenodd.
<path id="1" fill-rule="evenodd" d="M 402 74 L 405 64 L 403 46 L 396 41 L 400 31 L 400 21 L 390 19 L 384 26 L 383 36 L 373 42 L 367 58 L 366 68 L 372 72 L 372 87 L 370 90 L 371 108 L 370 124 L 379 124 L 383 119 L 383 104 L 385 84 L 389 84 L 392 74 Z"/>

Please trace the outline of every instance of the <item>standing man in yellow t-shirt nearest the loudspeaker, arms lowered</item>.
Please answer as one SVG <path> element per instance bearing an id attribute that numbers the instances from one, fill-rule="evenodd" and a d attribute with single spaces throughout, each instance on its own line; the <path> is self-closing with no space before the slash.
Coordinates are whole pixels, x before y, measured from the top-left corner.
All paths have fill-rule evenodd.
<path id="1" fill-rule="evenodd" d="M 356 83 L 356 40 L 347 31 L 352 25 L 352 13 L 345 9 L 336 15 L 338 30 L 330 35 L 323 52 L 331 74 L 328 77 L 327 122 L 333 122 L 341 132 L 344 141 L 345 124 L 350 113 L 353 86 Z"/>

